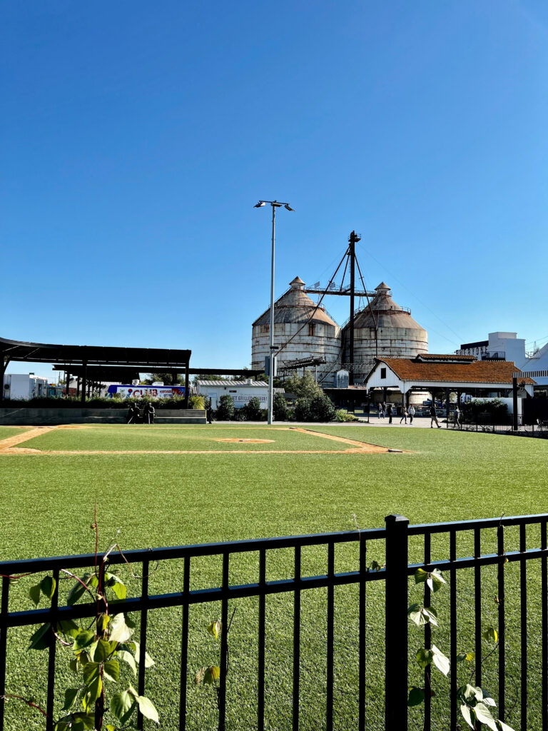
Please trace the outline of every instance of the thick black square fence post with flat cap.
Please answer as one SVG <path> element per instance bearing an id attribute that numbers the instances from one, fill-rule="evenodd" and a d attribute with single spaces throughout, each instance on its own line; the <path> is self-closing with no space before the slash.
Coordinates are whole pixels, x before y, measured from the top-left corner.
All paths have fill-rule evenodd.
<path id="1" fill-rule="evenodd" d="M 385 731 L 407 730 L 407 564 L 408 525 L 403 515 L 387 515 Z"/>

